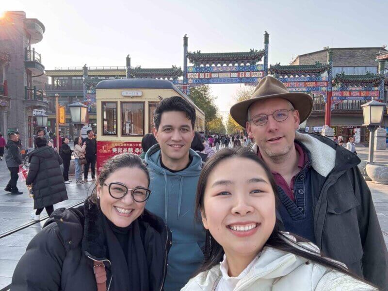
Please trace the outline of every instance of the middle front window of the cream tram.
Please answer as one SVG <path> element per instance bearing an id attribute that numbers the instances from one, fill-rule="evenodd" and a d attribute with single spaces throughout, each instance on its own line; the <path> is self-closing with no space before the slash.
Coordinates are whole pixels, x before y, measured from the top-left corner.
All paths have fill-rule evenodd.
<path id="1" fill-rule="evenodd" d="M 121 135 L 144 135 L 144 102 L 121 102 Z"/>

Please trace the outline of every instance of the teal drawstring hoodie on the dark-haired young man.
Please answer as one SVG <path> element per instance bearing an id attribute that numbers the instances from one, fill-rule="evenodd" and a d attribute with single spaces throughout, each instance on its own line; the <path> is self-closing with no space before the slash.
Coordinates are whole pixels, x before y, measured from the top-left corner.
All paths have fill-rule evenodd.
<path id="1" fill-rule="evenodd" d="M 195 220 L 194 201 L 202 160 L 190 149 L 193 161 L 180 172 L 172 173 L 161 166 L 159 144 L 146 153 L 151 195 L 146 209 L 163 218 L 172 231 L 172 247 L 168 254 L 165 291 L 178 291 L 189 281 L 203 261 L 205 229 Z"/>

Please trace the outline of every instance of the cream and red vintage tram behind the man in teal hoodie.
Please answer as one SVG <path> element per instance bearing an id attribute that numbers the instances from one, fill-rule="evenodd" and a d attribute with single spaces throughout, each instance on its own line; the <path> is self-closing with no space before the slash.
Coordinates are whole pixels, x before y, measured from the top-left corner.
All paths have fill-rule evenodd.
<path id="1" fill-rule="evenodd" d="M 204 131 L 203 111 L 170 81 L 118 79 L 97 84 L 97 172 L 116 154 L 143 152 L 141 140 L 146 133 L 153 133 L 155 108 L 163 98 L 172 96 L 180 96 L 194 106 L 194 130 Z"/>

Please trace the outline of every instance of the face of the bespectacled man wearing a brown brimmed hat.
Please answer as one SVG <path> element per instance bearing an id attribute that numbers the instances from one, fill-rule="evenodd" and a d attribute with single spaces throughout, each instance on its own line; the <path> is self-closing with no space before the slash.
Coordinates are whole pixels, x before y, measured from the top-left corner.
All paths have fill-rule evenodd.
<path id="1" fill-rule="evenodd" d="M 290 110 L 290 103 L 282 98 L 270 98 L 257 101 L 249 108 L 250 118 L 258 114 L 273 114 L 277 110 Z M 272 115 L 268 116 L 265 125 L 257 126 L 252 121 L 246 123 L 246 129 L 252 134 L 259 146 L 260 153 L 268 158 L 287 155 L 295 140 L 295 130 L 299 128 L 299 112 L 289 111 L 284 121 L 276 121 Z"/>

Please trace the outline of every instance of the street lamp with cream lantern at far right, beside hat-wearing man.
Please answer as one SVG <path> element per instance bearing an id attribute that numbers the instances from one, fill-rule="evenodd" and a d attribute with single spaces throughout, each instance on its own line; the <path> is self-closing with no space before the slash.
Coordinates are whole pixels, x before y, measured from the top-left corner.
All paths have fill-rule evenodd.
<path id="1" fill-rule="evenodd" d="M 370 131 L 369 138 L 369 158 L 368 163 L 373 163 L 374 152 L 374 131 L 379 127 L 383 121 L 384 109 L 386 104 L 372 100 L 368 103 L 361 105 L 362 114 L 364 116 L 363 126 L 367 126 Z"/>

